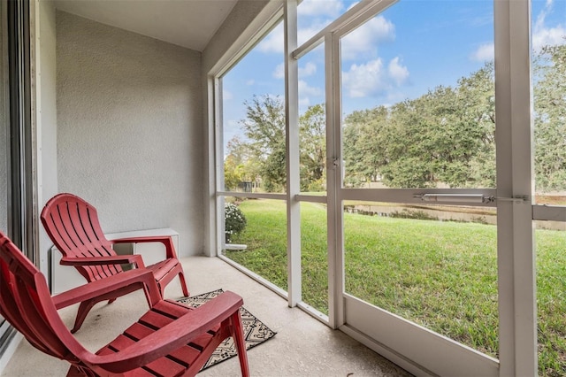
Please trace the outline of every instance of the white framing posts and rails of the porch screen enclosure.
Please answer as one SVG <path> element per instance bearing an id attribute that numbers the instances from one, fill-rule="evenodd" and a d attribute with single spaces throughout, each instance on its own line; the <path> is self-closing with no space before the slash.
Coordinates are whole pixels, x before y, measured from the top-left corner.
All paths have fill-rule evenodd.
<path id="1" fill-rule="evenodd" d="M 222 229 L 222 219 L 218 203 L 224 196 L 247 196 L 257 198 L 276 198 L 287 201 L 287 257 L 288 257 L 288 293 L 274 287 L 270 282 L 246 271 L 257 281 L 285 296 L 289 306 L 298 305 L 310 312 L 329 327 L 340 328 L 360 342 L 378 350 L 387 358 L 407 368 L 412 373 L 426 375 L 429 373 L 447 373 L 446 369 L 434 369 L 427 365 L 416 365 L 409 355 L 397 353 L 380 343 L 379 336 L 360 333 L 356 328 L 348 327 L 345 320 L 345 302 L 350 299 L 344 294 L 344 268 L 342 245 L 342 212 L 341 201 L 356 198 L 362 200 L 379 200 L 387 202 L 410 203 L 416 201 L 416 190 L 387 189 L 373 191 L 371 189 L 344 189 L 341 186 L 340 171 L 340 51 L 341 35 L 362 25 L 374 17 L 395 0 L 363 0 L 340 16 L 329 26 L 301 46 L 296 46 L 296 0 L 284 2 L 285 22 L 285 71 L 286 71 L 286 112 L 287 112 L 287 192 L 286 194 L 241 194 L 215 191 L 217 200 L 216 229 Z M 489 375 L 536 375 L 537 331 L 536 331 L 536 285 L 535 285 L 535 248 L 533 242 L 533 219 L 566 221 L 566 208 L 547 205 L 533 205 L 534 193 L 532 185 L 532 92 L 531 92 L 531 9 L 529 0 L 494 0 L 494 39 L 495 39 L 495 76 L 496 112 L 497 112 L 497 189 L 491 190 L 459 190 L 459 193 L 470 195 L 487 194 L 498 198 L 498 281 L 500 311 L 500 358 L 487 358 L 484 365 Z M 280 13 L 279 13 L 280 15 Z M 278 17 L 279 17 L 278 15 Z M 264 35 L 265 29 L 256 35 Z M 255 42 L 250 42 L 251 46 Z M 327 150 L 327 195 L 301 195 L 298 168 L 298 92 L 297 92 L 297 59 L 313 50 L 321 42 L 325 42 L 325 81 L 326 81 L 326 150 Z M 241 49 L 246 51 L 246 49 Z M 233 57 L 233 62 L 241 58 Z M 216 90 L 215 145 L 217 163 L 215 165 L 215 184 L 221 183 L 224 171 L 222 161 L 218 161 L 221 143 L 221 93 L 218 77 L 232 65 L 225 65 L 211 76 L 210 86 Z M 294 104 L 294 105 L 293 105 Z M 525 151 L 527 151 L 525 153 Z M 334 164 L 336 163 L 336 164 Z M 530 166 L 531 169 L 525 168 Z M 419 190 L 417 190 L 420 192 Z M 422 190 L 422 193 L 450 193 L 451 190 Z M 301 265 L 300 265 L 300 202 L 316 202 L 328 204 L 328 277 L 329 277 L 329 315 L 325 317 L 312 310 L 301 301 Z M 216 232 L 217 255 L 220 256 L 221 245 L 219 233 Z M 229 259 L 226 259 L 228 262 Z M 235 264 L 234 264 L 235 265 Z M 245 270 L 245 269 L 244 269 Z M 414 336 L 414 334 L 407 334 Z M 479 353 L 478 353 L 479 354 Z M 474 357 L 475 358 L 475 357 Z M 485 358 L 485 355 L 478 355 Z M 460 373 L 478 373 L 474 362 L 461 362 L 464 358 L 452 360 L 450 363 L 458 367 Z M 436 361 L 434 361 L 436 363 Z M 434 364 L 432 363 L 432 364 Z"/>

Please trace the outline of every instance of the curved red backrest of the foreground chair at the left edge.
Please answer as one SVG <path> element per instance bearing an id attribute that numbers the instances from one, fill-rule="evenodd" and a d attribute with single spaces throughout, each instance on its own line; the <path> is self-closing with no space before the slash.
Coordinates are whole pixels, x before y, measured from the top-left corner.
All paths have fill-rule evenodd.
<path id="1" fill-rule="evenodd" d="M 0 314 L 38 350 L 74 365 L 84 350 L 65 327 L 45 277 L 0 232 Z"/>

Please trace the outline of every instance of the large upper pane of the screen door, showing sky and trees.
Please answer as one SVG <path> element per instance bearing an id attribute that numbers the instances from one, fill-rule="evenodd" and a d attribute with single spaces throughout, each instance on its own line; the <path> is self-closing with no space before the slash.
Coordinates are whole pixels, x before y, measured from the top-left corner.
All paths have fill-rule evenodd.
<path id="1" fill-rule="evenodd" d="M 399 2 L 340 41 L 346 188 L 494 188 L 493 1 Z"/>

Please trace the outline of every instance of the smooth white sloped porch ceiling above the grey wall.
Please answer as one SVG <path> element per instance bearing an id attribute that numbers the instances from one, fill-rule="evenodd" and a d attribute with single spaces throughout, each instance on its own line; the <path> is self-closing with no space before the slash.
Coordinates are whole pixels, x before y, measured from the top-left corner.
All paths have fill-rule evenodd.
<path id="1" fill-rule="evenodd" d="M 55 0 L 57 9 L 202 51 L 238 0 Z"/>

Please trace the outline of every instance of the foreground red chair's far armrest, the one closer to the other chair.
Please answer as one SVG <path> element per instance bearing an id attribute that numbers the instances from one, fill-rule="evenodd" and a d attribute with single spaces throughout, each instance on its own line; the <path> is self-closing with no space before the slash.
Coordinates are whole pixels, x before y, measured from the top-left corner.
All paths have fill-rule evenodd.
<path id="1" fill-rule="evenodd" d="M 156 304 L 160 300 L 161 296 L 159 295 L 159 289 L 157 288 L 153 273 L 145 268 L 118 273 L 99 281 L 91 281 L 80 287 L 69 289 L 56 296 L 52 296 L 51 298 L 53 304 L 55 304 L 55 308 L 59 310 L 106 293 L 115 292 L 133 284 L 139 284 L 140 289 L 144 286 L 148 289 L 149 296 L 151 297 L 150 305 Z"/>

